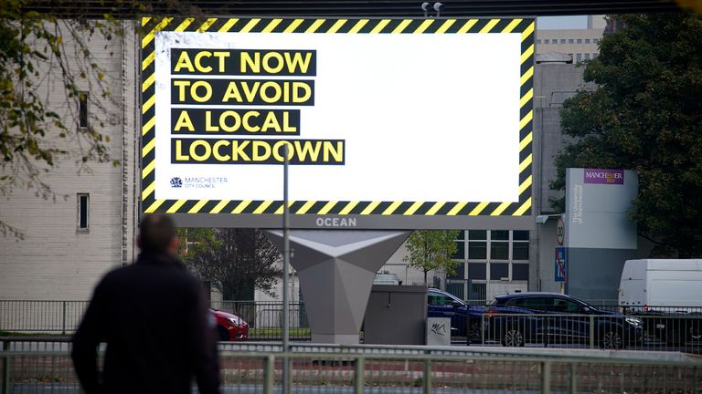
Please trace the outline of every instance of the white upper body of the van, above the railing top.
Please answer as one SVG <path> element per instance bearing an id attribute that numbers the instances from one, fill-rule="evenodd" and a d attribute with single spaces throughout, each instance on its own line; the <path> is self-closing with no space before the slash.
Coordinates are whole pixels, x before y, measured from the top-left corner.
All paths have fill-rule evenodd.
<path id="1" fill-rule="evenodd" d="M 692 312 L 702 307 L 702 259 L 627 260 L 619 305 L 631 311 Z"/>

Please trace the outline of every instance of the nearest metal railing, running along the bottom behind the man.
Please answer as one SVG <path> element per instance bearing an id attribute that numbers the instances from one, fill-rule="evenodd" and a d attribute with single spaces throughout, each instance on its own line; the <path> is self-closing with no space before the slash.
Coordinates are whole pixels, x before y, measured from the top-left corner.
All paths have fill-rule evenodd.
<path id="1" fill-rule="evenodd" d="M 692 393 L 702 385 L 702 364 L 692 359 L 560 357 L 430 347 L 346 349 L 352 351 L 343 347 L 313 351 L 309 346 L 290 353 L 220 350 L 222 389 L 271 394 L 282 385 L 285 358 L 291 360 L 296 393 Z M 80 392 L 67 351 L 3 351 L 0 361 L 2 394 Z"/>

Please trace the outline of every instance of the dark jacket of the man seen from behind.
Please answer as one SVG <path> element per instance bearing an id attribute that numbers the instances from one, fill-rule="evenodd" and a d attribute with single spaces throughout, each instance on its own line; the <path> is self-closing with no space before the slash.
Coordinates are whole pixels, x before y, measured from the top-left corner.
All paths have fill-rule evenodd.
<path id="1" fill-rule="evenodd" d="M 204 286 L 170 254 L 141 254 L 95 288 L 73 337 L 73 364 L 90 393 L 218 393 L 213 317 Z M 97 347 L 107 343 L 102 377 Z"/>

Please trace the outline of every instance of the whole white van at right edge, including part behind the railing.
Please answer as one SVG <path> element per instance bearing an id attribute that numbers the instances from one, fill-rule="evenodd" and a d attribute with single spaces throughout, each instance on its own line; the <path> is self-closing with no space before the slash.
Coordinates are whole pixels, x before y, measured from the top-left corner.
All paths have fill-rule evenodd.
<path id="1" fill-rule="evenodd" d="M 627 260 L 619 305 L 668 345 L 702 340 L 702 259 Z"/>

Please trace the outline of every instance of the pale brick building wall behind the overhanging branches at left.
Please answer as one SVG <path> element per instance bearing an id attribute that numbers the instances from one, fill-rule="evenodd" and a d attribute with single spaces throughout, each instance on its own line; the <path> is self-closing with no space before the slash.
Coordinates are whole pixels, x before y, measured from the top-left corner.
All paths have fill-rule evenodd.
<path id="1" fill-rule="evenodd" d="M 137 56 L 133 24 L 123 22 L 122 27 L 126 33 L 110 42 L 98 36 L 86 41 L 112 92 L 110 98 L 101 98 L 93 91 L 88 111 L 105 120 L 105 127 L 98 130 L 110 137 L 110 154 L 120 166 L 83 166 L 77 153 L 79 141 L 55 136 L 52 142 L 71 152 L 58 157 L 55 168 L 43 176 L 56 199 L 44 200 L 34 190 L 15 187 L 0 202 L 0 220 L 25 237 L 19 241 L 0 236 L 0 299 L 86 300 L 105 272 L 133 260 L 138 190 L 134 179 L 139 171 L 135 160 Z M 69 36 L 64 40 L 69 51 L 73 44 Z M 51 77 L 48 69 L 41 72 L 49 77 L 37 85 L 39 97 L 48 97 L 50 107 L 58 109 L 66 123 L 75 124 L 71 113 L 80 112 L 79 101 L 67 98 L 61 78 Z M 79 88 L 90 94 L 89 83 L 78 81 L 83 84 Z M 91 105 L 96 100 L 106 113 Z M 47 132 L 48 138 L 57 133 Z"/>

